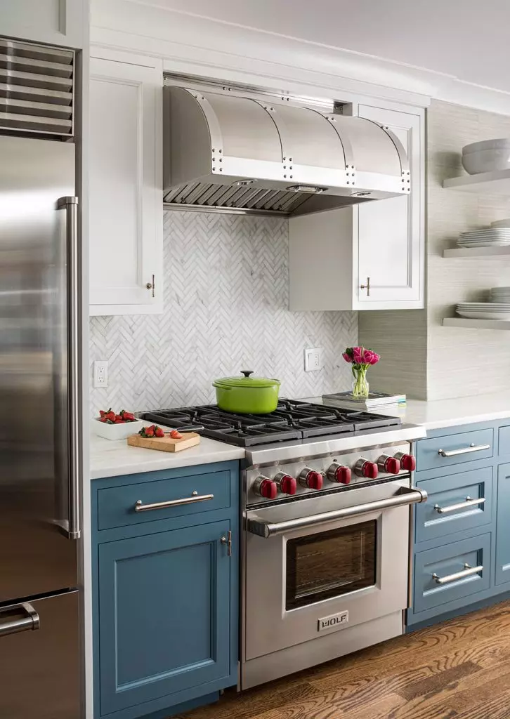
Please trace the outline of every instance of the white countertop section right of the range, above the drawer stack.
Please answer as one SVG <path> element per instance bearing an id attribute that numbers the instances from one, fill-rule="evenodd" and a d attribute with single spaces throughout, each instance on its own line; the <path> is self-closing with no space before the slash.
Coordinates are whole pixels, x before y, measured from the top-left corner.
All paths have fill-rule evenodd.
<path id="1" fill-rule="evenodd" d="M 322 400 L 314 398 L 313 401 Z M 381 410 L 381 414 L 401 417 L 403 422 L 419 424 L 427 430 L 490 422 L 510 418 L 510 392 L 430 402 L 408 399 L 404 408 Z"/>

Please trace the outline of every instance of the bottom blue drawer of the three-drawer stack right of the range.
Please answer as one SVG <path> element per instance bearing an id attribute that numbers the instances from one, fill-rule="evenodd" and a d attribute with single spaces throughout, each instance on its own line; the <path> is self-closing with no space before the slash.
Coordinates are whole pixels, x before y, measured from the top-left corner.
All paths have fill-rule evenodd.
<path id="1" fill-rule="evenodd" d="M 470 574 L 476 567 L 480 569 Z M 414 613 L 433 607 L 446 611 L 443 605 L 486 590 L 490 583 L 491 533 L 419 551 L 414 557 Z"/>

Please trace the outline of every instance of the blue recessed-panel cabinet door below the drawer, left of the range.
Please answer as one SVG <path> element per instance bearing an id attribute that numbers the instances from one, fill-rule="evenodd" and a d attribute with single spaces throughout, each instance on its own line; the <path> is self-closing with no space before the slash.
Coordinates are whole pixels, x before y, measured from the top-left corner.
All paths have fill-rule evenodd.
<path id="1" fill-rule="evenodd" d="M 228 530 L 222 521 L 99 546 L 101 715 L 228 677 Z"/>

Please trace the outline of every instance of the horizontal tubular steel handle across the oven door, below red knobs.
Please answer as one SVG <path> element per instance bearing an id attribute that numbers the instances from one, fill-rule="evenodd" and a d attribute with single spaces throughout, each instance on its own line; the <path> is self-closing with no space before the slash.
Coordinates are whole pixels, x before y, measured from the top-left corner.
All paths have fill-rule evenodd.
<path id="1" fill-rule="evenodd" d="M 387 499 L 381 499 L 376 502 L 367 502 L 355 507 L 345 507 L 335 509 L 331 512 L 322 512 L 321 514 L 312 514 L 307 517 L 299 517 L 296 519 L 288 519 L 283 522 L 267 522 L 260 517 L 254 515 L 247 519 L 247 529 L 252 534 L 268 539 L 269 537 L 283 534 L 293 529 L 306 529 L 314 527 L 318 524 L 332 522 L 335 519 L 348 519 L 350 517 L 358 517 L 363 514 L 370 514 L 378 510 L 392 509 L 393 507 L 401 507 L 419 502 L 427 501 L 427 492 L 419 487 L 402 487 L 398 494 Z"/>

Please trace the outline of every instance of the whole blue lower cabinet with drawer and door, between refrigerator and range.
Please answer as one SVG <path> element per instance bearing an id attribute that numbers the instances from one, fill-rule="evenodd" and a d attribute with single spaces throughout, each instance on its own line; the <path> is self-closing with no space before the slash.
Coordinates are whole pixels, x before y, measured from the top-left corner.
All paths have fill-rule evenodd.
<path id="1" fill-rule="evenodd" d="M 140 522 L 136 498 L 163 506 Z M 238 463 L 94 480 L 92 521 L 94 719 L 217 699 L 237 683 Z"/>

